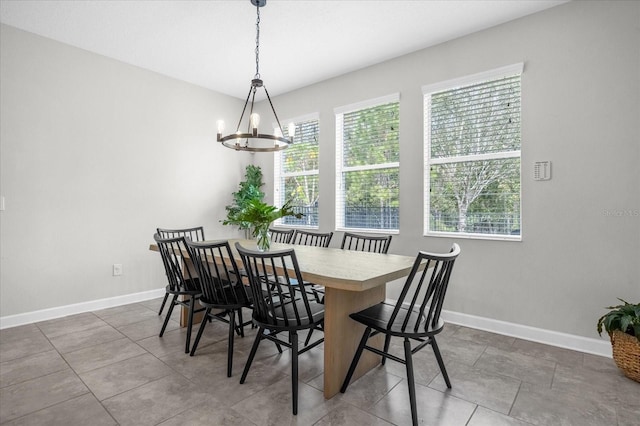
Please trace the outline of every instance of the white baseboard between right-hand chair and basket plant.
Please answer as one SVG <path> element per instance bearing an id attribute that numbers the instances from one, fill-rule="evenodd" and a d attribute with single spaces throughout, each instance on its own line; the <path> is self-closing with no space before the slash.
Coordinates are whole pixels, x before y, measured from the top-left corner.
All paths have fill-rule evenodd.
<path id="1" fill-rule="evenodd" d="M 489 331 L 523 340 L 557 346 L 578 352 L 600 355 L 611 358 L 611 342 L 609 340 L 590 339 L 573 334 L 560 333 L 527 325 L 514 324 L 491 318 L 461 314 L 459 312 L 442 311 L 442 319 L 451 323 L 478 330 Z"/>

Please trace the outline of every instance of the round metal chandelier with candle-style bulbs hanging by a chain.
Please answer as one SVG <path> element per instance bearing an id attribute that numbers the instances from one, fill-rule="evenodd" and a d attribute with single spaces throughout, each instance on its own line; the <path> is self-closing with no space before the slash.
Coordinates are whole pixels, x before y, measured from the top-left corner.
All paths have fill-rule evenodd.
<path id="1" fill-rule="evenodd" d="M 242 109 L 242 114 L 240 114 L 240 120 L 238 120 L 238 126 L 236 127 L 236 132 L 231 133 L 227 136 L 222 136 L 222 132 L 224 131 L 224 121 L 218 120 L 218 142 L 222 143 L 222 145 L 227 148 L 235 149 L 236 151 L 251 151 L 251 152 L 273 152 L 280 151 L 289 146 L 290 143 L 293 142 L 293 136 L 295 133 L 295 124 L 289 124 L 289 139 L 285 138 L 282 133 L 282 126 L 280 125 L 280 120 L 278 119 L 278 115 L 276 114 L 276 110 L 273 107 L 273 103 L 271 102 L 271 98 L 269 97 L 269 92 L 267 88 L 264 86 L 264 82 L 260 78 L 260 8 L 267 4 L 267 0 L 250 0 L 251 4 L 256 7 L 256 74 L 253 76 L 253 80 L 251 80 L 251 86 L 249 88 L 249 94 L 247 95 L 247 100 L 244 103 L 244 108 Z M 267 100 L 269 101 L 269 105 L 271 106 L 271 111 L 273 111 L 273 115 L 275 117 L 275 122 L 278 127 L 274 129 L 273 134 L 264 134 L 258 132 L 258 126 L 260 124 L 260 116 L 254 112 L 253 106 L 256 98 L 256 92 L 258 89 L 264 89 L 265 94 L 267 95 Z M 247 114 L 248 107 L 248 114 Z M 245 114 L 247 114 L 246 118 L 246 132 L 243 133 L 241 131 L 241 127 L 243 126 L 243 119 L 245 119 Z"/>

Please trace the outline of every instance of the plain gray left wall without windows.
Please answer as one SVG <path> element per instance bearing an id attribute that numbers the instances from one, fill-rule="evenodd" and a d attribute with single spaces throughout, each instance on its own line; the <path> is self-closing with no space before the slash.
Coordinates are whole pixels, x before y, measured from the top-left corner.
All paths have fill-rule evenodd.
<path id="1" fill-rule="evenodd" d="M 0 316 L 163 287 L 158 226 L 235 235 L 218 220 L 251 157 L 215 121 L 241 101 L 1 31 Z"/>

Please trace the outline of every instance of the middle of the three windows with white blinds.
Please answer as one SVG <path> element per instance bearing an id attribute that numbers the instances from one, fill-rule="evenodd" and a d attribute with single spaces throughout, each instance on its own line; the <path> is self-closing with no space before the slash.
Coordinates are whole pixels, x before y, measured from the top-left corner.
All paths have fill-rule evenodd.
<path id="1" fill-rule="evenodd" d="M 336 227 L 397 231 L 398 94 L 337 108 Z"/>

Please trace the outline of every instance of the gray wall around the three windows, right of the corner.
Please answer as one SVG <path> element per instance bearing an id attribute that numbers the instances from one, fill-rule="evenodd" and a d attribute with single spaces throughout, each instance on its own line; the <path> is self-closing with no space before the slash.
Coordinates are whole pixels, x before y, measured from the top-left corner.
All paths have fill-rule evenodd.
<path id="1" fill-rule="evenodd" d="M 401 217 L 391 252 L 456 241 L 462 255 L 446 309 L 597 337 L 604 306 L 640 301 L 639 26 L 639 2 L 570 2 L 277 97 L 280 118 L 320 114 L 320 229 L 334 227 L 333 109 L 400 92 Z M 421 86 L 517 62 L 522 242 L 423 237 Z M 256 159 L 271 177 L 271 157 Z M 543 160 L 553 179 L 533 181 Z"/>

